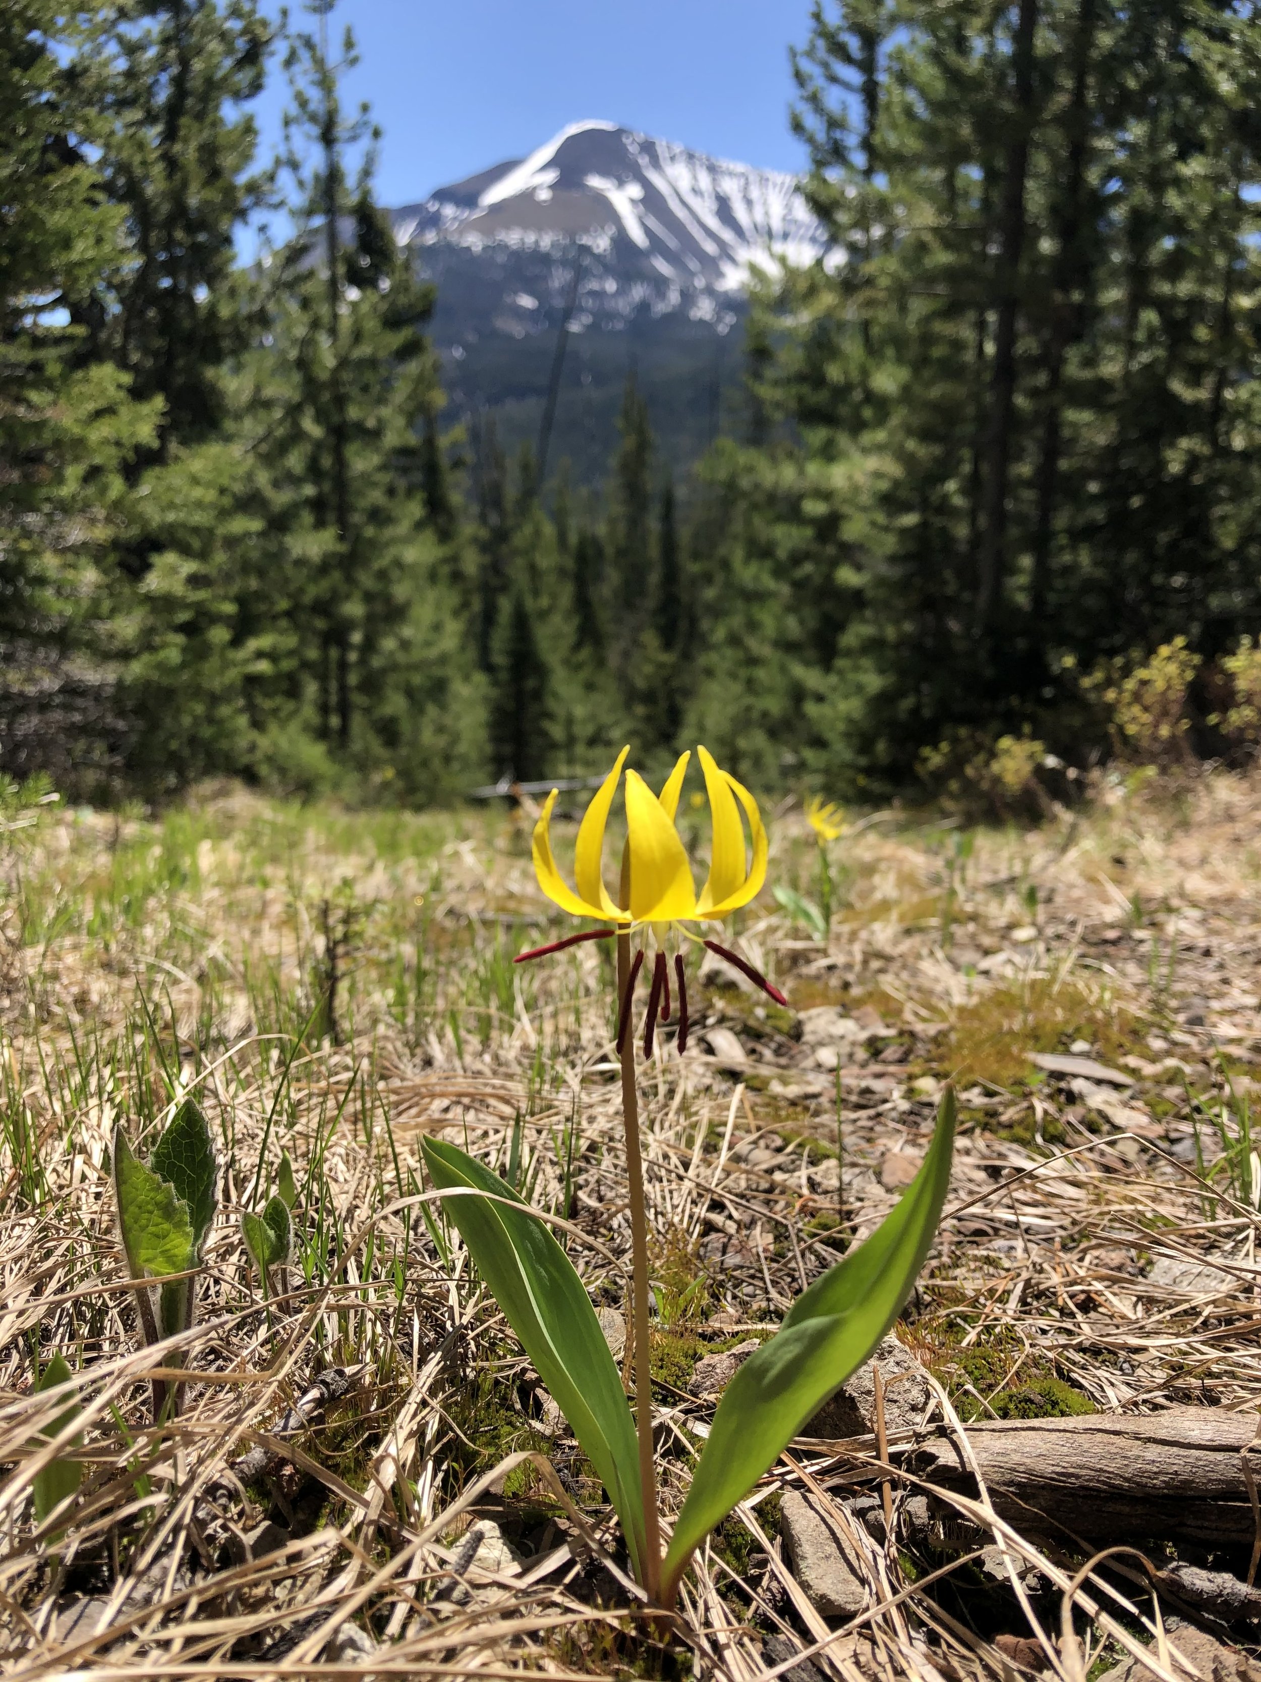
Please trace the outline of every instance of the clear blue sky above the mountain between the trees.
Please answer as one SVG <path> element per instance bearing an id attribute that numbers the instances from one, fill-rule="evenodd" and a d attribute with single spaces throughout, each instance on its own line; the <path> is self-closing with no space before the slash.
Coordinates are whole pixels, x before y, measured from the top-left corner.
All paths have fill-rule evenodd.
<path id="1" fill-rule="evenodd" d="M 809 0 L 341 0 L 333 40 L 346 24 L 361 61 L 346 94 L 383 130 L 385 205 L 521 158 L 580 118 L 762 168 L 804 161 L 789 42 L 805 39 Z M 282 106 L 276 66 L 256 104 L 264 150 Z"/>

